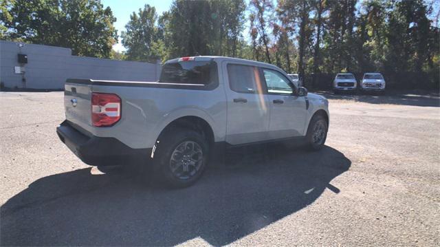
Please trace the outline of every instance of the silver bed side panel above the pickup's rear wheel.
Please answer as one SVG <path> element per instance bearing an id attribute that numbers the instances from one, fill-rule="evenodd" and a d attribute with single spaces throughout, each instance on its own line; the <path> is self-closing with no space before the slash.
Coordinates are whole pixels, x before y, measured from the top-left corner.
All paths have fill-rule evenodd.
<path id="1" fill-rule="evenodd" d="M 117 138 L 133 149 L 151 148 L 170 122 L 184 116 L 197 116 L 212 127 L 214 141 L 224 140 L 223 83 L 213 90 L 106 85 L 93 85 L 91 90 L 118 94 L 122 100 L 121 120 L 112 127 L 91 127 L 95 136 Z"/>

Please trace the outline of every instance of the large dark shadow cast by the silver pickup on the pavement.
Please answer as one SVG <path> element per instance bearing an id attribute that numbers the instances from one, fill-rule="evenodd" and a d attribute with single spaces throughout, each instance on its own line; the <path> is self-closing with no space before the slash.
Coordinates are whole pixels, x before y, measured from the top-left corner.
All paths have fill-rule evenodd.
<path id="1" fill-rule="evenodd" d="M 198 237 L 230 244 L 312 204 L 326 188 L 336 195 L 331 180 L 351 166 L 331 147 L 228 157 L 232 165 L 211 167 L 187 189 L 146 186 L 126 169 L 41 178 L 1 206 L 0 244 L 170 246 Z"/>

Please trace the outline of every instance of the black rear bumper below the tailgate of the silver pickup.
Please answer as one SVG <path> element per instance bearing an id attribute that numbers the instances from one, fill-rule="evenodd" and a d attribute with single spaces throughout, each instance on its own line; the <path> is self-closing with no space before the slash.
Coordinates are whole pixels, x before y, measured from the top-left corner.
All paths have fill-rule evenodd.
<path id="1" fill-rule="evenodd" d="M 56 127 L 56 133 L 80 160 L 92 166 L 140 164 L 151 155 L 151 149 L 132 149 L 116 138 L 85 136 L 67 120 Z"/>

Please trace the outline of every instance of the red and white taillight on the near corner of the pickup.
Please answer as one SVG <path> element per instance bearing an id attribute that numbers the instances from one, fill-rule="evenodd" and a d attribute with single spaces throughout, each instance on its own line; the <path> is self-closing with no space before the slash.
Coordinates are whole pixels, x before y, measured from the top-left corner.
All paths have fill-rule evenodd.
<path id="1" fill-rule="evenodd" d="M 121 99 L 116 94 L 91 94 L 91 122 L 109 127 L 121 119 Z"/>

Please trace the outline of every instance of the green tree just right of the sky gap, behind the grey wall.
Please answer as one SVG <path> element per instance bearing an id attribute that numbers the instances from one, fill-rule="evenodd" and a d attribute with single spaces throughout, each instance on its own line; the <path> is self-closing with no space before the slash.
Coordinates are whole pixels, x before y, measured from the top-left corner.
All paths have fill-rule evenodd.
<path id="1" fill-rule="evenodd" d="M 126 47 L 125 58 L 131 61 L 155 62 L 163 55 L 163 41 L 159 41 L 157 14 L 154 7 L 146 4 L 137 14 L 130 15 L 130 21 L 122 32 L 122 45 Z"/>

